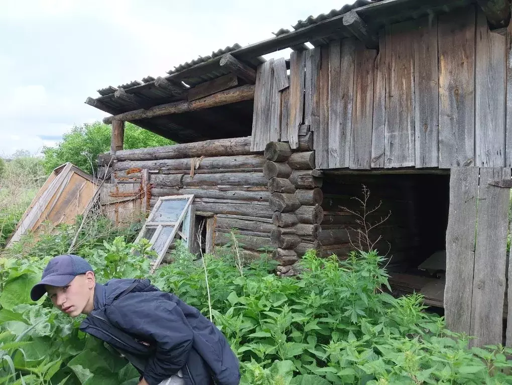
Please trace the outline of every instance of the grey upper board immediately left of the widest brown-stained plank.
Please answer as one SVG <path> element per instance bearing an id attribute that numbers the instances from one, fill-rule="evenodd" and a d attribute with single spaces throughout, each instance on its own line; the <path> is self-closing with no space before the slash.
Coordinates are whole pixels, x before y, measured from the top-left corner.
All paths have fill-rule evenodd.
<path id="1" fill-rule="evenodd" d="M 414 39 L 415 166 L 439 165 L 437 18 L 416 20 Z"/>

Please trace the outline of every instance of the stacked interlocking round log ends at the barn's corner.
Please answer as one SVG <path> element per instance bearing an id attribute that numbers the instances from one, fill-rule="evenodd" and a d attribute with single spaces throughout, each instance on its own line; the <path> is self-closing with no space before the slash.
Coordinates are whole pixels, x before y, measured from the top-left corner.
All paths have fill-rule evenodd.
<path id="1" fill-rule="evenodd" d="M 268 180 L 273 224 L 270 240 L 283 275 L 294 272 L 293 265 L 307 250 L 319 250 L 324 219 L 323 175 L 315 169 L 309 127 L 298 135 L 296 147 L 293 150 L 288 142 L 273 141 L 264 152 L 263 175 Z"/>

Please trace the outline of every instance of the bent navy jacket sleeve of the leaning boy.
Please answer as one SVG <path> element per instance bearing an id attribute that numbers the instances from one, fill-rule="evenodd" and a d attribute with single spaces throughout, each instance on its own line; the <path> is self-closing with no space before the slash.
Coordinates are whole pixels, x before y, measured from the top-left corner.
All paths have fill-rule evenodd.
<path id="1" fill-rule="evenodd" d="M 112 324 L 156 344 L 144 369 L 144 379 L 158 385 L 185 366 L 194 333 L 181 309 L 171 301 L 132 293 L 107 307 Z"/>

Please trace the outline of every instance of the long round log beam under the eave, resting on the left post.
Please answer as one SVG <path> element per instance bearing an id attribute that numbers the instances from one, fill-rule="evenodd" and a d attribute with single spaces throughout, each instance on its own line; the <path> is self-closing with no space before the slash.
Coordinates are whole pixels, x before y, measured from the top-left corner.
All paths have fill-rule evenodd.
<path id="1" fill-rule="evenodd" d="M 113 120 L 131 121 L 154 118 L 156 116 L 180 114 L 183 112 L 203 110 L 250 99 L 254 99 L 254 85 L 252 84 L 242 85 L 241 87 L 219 92 L 194 101 L 178 101 L 160 104 L 148 108 L 147 110 L 141 109 L 125 112 L 115 116 L 109 116 L 103 119 L 103 123 L 110 124 Z"/>

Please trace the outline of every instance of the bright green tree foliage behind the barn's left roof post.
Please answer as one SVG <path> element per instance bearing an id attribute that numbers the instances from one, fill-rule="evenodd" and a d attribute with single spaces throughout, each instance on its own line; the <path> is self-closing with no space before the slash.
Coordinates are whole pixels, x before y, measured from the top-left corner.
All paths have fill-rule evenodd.
<path id="1" fill-rule="evenodd" d="M 45 147 L 44 165 L 47 173 L 62 163 L 71 162 L 88 173 L 96 173 L 98 155 L 110 151 L 111 126 L 101 122 L 74 126 L 55 147 Z M 134 124 L 125 123 L 124 149 L 174 144 Z"/>

